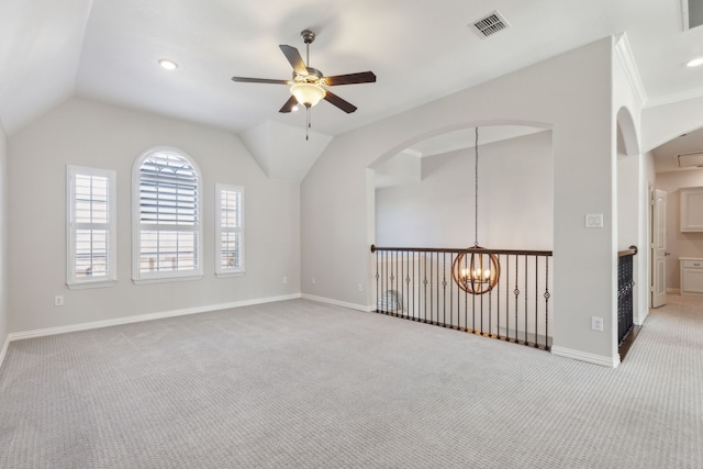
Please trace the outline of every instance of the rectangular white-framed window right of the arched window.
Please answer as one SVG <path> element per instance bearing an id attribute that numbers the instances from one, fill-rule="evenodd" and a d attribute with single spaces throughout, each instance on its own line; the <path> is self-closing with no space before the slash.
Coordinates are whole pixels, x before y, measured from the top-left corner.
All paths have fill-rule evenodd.
<path id="1" fill-rule="evenodd" d="M 215 186 L 215 273 L 244 273 L 244 188 Z"/>

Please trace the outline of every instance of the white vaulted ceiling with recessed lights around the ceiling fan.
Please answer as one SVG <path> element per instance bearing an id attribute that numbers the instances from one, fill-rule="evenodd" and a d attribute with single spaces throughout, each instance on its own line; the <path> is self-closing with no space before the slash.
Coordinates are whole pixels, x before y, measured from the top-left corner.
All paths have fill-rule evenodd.
<path id="1" fill-rule="evenodd" d="M 700 0 L 691 0 L 700 1 Z M 372 70 L 376 83 L 335 87 L 312 129 L 334 136 L 515 69 L 626 33 L 646 104 L 703 96 L 703 27 L 684 31 L 685 0 L 0 0 L 0 120 L 12 135 L 71 96 L 243 134 L 280 114 L 289 79 L 279 44 L 311 29 L 312 67 Z M 481 40 L 469 24 L 499 10 L 511 27 Z M 166 71 L 159 58 L 180 67 Z M 277 126 L 272 126 L 276 129 Z M 298 138 L 298 137 L 295 137 Z M 698 148 L 700 149 L 700 148 Z"/>

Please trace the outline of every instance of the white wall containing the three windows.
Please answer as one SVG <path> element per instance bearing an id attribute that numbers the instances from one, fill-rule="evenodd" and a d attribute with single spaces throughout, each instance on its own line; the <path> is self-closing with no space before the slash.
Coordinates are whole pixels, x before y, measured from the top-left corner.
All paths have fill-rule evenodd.
<path id="1" fill-rule="evenodd" d="M 202 171 L 205 275 L 198 281 L 135 286 L 132 165 L 142 152 L 159 145 L 186 152 Z M 66 165 L 118 172 L 118 282 L 112 288 L 68 290 L 65 284 Z M 11 333 L 300 292 L 299 185 L 266 178 L 230 133 L 70 99 L 9 139 L 8 179 Z M 243 277 L 214 276 L 216 182 L 246 190 Z M 56 294 L 64 295 L 63 308 L 54 306 Z"/>

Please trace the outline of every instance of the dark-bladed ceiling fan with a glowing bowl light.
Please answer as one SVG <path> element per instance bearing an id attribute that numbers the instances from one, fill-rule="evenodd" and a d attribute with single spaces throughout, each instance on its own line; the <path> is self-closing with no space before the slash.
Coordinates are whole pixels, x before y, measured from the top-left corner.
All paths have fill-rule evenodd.
<path id="1" fill-rule="evenodd" d="M 286 101 L 278 112 L 291 112 L 297 109 L 297 104 L 304 105 L 308 110 L 317 104 L 322 99 L 336 105 L 346 113 L 357 110 L 356 105 L 339 98 L 327 89 L 338 85 L 356 85 L 376 82 L 376 75 L 372 71 L 360 71 L 357 74 L 335 75 L 325 77 L 322 71 L 316 68 L 309 67 L 310 64 L 310 44 L 315 41 L 315 33 L 304 30 L 300 33 L 300 37 L 305 43 L 306 60 L 303 62 L 300 53 L 295 47 L 280 45 L 283 55 L 293 67 L 293 77 L 290 80 L 276 80 L 268 78 L 245 78 L 232 77 L 233 81 L 245 83 L 275 83 L 290 86 L 291 97 Z M 310 122 L 308 123 L 310 126 Z"/>

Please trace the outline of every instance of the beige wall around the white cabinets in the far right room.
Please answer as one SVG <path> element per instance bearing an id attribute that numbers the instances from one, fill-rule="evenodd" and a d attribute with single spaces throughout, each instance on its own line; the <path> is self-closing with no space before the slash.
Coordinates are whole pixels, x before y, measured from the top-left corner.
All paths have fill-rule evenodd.
<path id="1" fill-rule="evenodd" d="M 667 290 L 681 288 L 679 257 L 703 257 L 703 233 L 681 233 L 680 188 L 702 187 L 703 169 L 660 172 L 656 188 L 667 192 Z"/>

